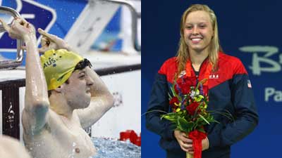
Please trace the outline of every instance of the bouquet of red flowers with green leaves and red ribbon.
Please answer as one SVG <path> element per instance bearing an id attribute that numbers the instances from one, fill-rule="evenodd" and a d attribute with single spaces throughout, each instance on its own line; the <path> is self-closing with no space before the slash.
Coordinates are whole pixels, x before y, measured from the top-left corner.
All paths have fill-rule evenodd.
<path id="1" fill-rule="evenodd" d="M 202 139 L 207 137 L 204 125 L 217 122 L 207 112 L 209 103 L 207 79 L 197 82 L 196 77 L 180 77 L 171 87 L 169 105 L 173 112 L 162 115 L 161 119 L 168 119 L 176 126 L 176 130 L 188 133 L 192 139 L 194 158 L 202 157 Z M 193 157 L 188 152 L 186 157 Z"/>

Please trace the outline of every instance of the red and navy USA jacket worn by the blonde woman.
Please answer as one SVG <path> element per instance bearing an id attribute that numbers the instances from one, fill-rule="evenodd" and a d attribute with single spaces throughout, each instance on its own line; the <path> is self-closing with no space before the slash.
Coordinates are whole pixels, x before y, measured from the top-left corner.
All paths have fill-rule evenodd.
<path id="1" fill-rule="evenodd" d="M 207 77 L 209 60 L 202 62 L 198 81 Z M 159 70 L 146 114 L 146 126 L 149 131 L 161 136 L 159 145 L 166 150 L 168 158 L 185 157 L 185 152 L 174 138 L 171 122 L 160 119 L 164 112 L 171 112 L 168 93 L 177 72 L 176 58 L 170 58 L 164 62 Z M 192 67 L 192 66 L 191 66 Z M 192 77 L 196 76 L 194 70 L 190 71 Z M 230 112 L 233 119 L 223 114 L 213 114 L 218 123 L 205 126 L 208 133 L 209 149 L 202 152 L 202 158 L 230 157 L 230 147 L 251 133 L 258 124 L 257 108 L 252 93 L 247 71 L 243 63 L 231 55 L 219 52 L 218 69 L 210 72 L 208 79 L 209 105 L 207 110 L 216 112 Z M 164 112 L 161 112 L 164 111 Z"/>

